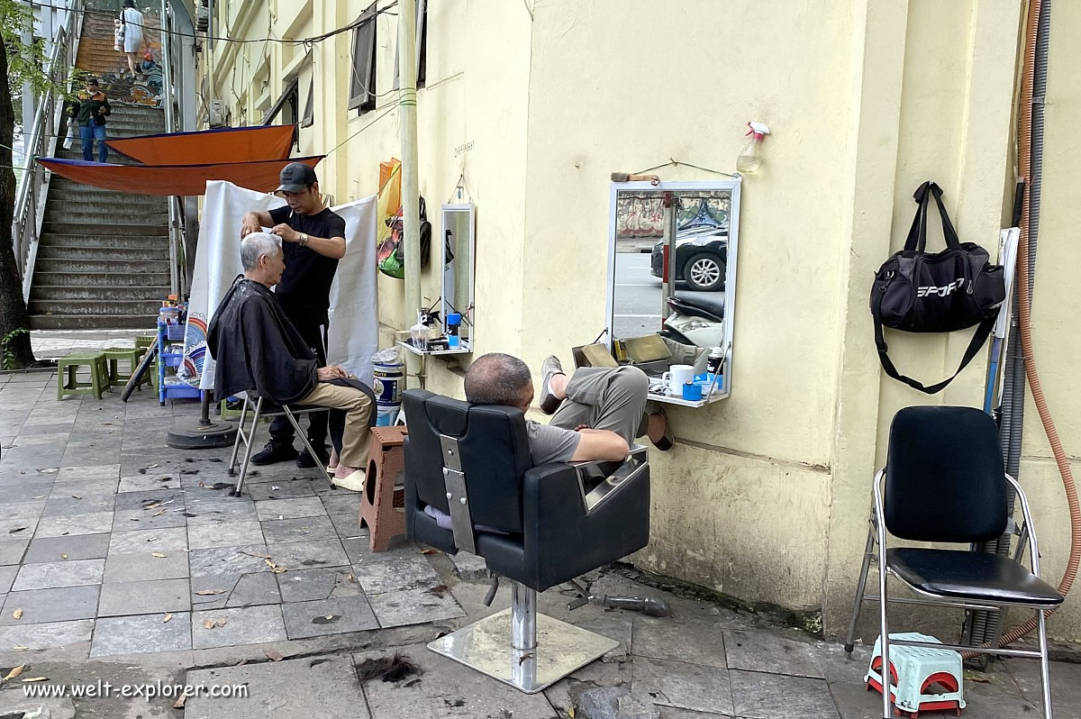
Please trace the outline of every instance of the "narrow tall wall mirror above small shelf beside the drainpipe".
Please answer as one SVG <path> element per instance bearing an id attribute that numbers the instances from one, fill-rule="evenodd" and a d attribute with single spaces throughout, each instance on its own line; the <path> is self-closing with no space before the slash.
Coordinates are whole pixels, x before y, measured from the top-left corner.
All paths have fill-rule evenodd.
<path id="1" fill-rule="evenodd" d="M 440 315 L 443 332 L 463 351 L 473 342 L 473 249 L 476 248 L 476 207 L 444 204 L 442 207 L 443 268 Z"/>

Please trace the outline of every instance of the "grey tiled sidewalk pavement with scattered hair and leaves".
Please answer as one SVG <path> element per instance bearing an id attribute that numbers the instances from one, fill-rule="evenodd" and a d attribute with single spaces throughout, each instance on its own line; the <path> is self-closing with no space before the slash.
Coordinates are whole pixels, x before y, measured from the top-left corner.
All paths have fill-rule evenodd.
<path id="1" fill-rule="evenodd" d="M 543 694 L 519 694 L 424 647 L 509 604 L 505 586 L 492 608 L 481 603 L 476 558 L 404 540 L 371 552 L 358 496 L 291 463 L 252 472 L 232 497 L 228 450 L 165 447 L 195 404 L 162 408 L 145 390 L 126 404 L 116 394 L 56 401 L 54 383 L 0 374 L 4 673 L 26 663 L 54 684 L 246 683 L 244 700 L 192 697 L 189 718 L 566 717 L 585 689 L 618 684 L 666 719 L 881 719 L 863 685 L 866 649 L 849 662 L 837 644 L 675 596 L 673 617 L 652 618 L 570 613 L 558 590 L 544 592 L 546 613 L 623 644 Z M 609 594 L 660 594 L 615 572 L 596 580 Z M 423 675 L 358 683 L 355 663 L 395 652 Z M 1081 716 L 1081 667 L 1056 663 L 1054 674 L 1059 716 Z M 966 682 L 965 717 L 1039 716 L 1035 664 L 1000 664 L 986 679 Z M 174 700 L 44 704 L 54 717 L 181 716 Z M 0 687 L 0 716 L 43 705 L 30 704 L 16 682 Z"/>

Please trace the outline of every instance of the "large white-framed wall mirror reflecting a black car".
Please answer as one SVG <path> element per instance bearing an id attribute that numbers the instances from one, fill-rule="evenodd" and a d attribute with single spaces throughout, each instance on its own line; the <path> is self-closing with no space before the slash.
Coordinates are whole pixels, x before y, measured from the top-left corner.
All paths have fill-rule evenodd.
<path id="1" fill-rule="evenodd" d="M 609 348 L 650 375 L 652 399 L 700 407 L 731 392 L 739 186 L 612 185 Z M 710 354 L 720 372 L 708 372 Z"/>

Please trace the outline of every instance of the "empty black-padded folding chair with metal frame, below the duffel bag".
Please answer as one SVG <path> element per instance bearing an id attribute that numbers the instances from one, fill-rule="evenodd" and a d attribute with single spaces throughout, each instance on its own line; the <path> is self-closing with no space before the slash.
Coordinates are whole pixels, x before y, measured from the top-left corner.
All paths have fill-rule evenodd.
<path id="1" fill-rule="evenodd" d="M 883 494 L 883 481 L 885 483 Z M 1025 523 L 1017 528 L 1007 510 L 1007 487 L 1020 500 Z M 1044 612 L 1063 597 L 1040 580 L 1040 550 L 1028 500 L 1002 466 L 998 427 L 984 412 L 967 407 L 909 407 L 894 415 L 886 465 L 875 477 L 875 508 L 856 586 L 856 601 L 844 643 L 851 657 L 860 604 L 878 600 L 881 615 L 882 676 L 888 676 L 890 647 L 929 647 L 959 652 L 977 651 L 1040 660 L 1043 711 L 1051 716 L 1047 676 L 1047 634 Z M 888 549 L 886 532 L 902 540 L 983 544 L 1006 530 L 1019 537 L 1013 557 L 960 549 L 898 547 Z M 1032 571 L 1020 563 L 1028 544 Z M 875 551 L 875 545 L 878 551 Z M 865 596 L 871 561 L 879 564 L 879 595 Z M 886 574 L 908 585 L 918 597 L 886 594 Z M 889 602 L 958 607 L 998 615 L 989 649 L 937 644 L 890 638 Z M 1039 651 L 999 648 L 1005 609 L 1036 611 Z M 882 713 L 893 716 L 891 692 L 882 692 Z"/>

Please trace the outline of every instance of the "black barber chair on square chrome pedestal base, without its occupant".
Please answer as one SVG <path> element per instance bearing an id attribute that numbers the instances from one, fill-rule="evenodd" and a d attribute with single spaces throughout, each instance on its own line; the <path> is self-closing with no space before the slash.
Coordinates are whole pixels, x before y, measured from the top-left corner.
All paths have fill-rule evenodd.
<path id="1" fill-rule="evenodd" d="M 405 532 L 448 554 L 483 557 L 512 585 L 510 609 L 428 649 L 533 694 L 619 642 L 536 611 L 536 592 L 573 581 L 650 541 L 644 448 L 619 463 L 534 467 L 525 418 L 509 407 L 404 394 Z M 426 505 L 450 515 L 441 529 Z"/>

